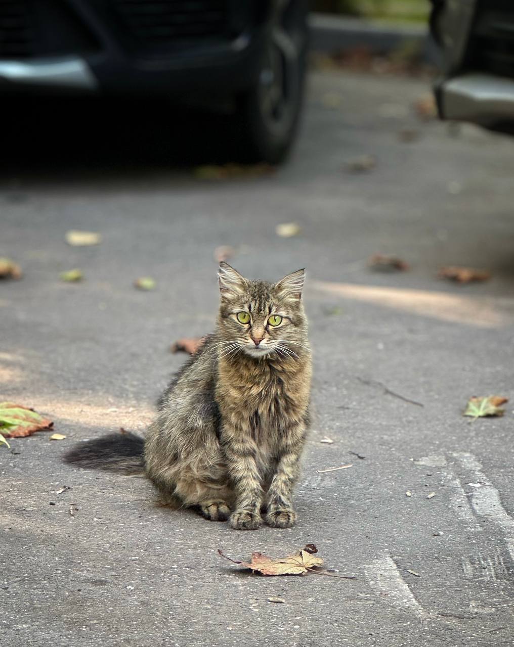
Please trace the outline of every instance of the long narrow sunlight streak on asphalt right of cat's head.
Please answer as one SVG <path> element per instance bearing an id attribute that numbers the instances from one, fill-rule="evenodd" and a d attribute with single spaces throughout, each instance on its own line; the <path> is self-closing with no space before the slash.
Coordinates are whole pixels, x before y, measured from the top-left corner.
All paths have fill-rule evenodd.
<path id="1" fill-rule="evenodd" d="M 329 281 L 312 281 L 311 287 L 345 299 L 478 328 L 500 328 L 513 320 L 508 311 L 514 307 L 514 300 L 506 298 Z M 506 306 L 504 311 L 502 305 Z"/>

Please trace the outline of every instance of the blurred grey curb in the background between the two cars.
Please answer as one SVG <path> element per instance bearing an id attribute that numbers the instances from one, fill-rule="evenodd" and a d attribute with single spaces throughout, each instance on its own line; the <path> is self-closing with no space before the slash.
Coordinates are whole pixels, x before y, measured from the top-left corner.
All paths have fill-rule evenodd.
<path id="1" fill-rule="evenodd" d="M 387 25 L 359 18 L 311 13 L 309 30 L 313 52 L 335 53 L 364 45 L 374 54 L 389 54 L 408 43 L 418 47 L 427 63 L 437 64 L 440 60 L 428 25 Z"/>

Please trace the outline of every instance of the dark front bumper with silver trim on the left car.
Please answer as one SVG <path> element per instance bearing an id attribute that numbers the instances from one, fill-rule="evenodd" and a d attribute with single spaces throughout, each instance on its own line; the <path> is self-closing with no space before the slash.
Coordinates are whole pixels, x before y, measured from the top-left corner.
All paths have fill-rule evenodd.
<path id="1" fill-rule="evenodd" d="M 34 15 L 17 15 L 16 32 L 5 33 L 11 17 L 2 12 L 12 3 L 0 3 L 0 92 L 247 89 L 260 72 L 273 3 L 40 0 Z"/>

